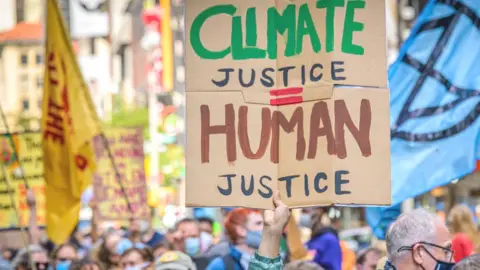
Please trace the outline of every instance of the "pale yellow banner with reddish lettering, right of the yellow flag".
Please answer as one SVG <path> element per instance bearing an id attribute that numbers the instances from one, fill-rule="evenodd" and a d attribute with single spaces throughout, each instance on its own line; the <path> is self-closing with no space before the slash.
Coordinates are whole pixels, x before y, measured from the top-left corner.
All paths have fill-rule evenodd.
<path id="1" fill-rule="evenodd" d="M 141 128 L 113 128 L 105 132 L 115 163 L 121 174 L 134 217 L 149 218 L 145 182 L 143 133 Z M 132 213 L 125 201 L 112 162 L 101 137 L 94 139 L 97 169 L 93 178 L 95 213 L 101 221 L 125 220 Z"/>

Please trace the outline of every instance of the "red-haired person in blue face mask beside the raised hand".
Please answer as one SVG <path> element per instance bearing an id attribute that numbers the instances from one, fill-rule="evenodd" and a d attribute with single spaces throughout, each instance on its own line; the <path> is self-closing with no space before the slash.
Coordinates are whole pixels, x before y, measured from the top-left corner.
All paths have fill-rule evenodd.
<path id="1" fill-rule="evenodd" d="M 228 213 L 225 229 L 231 241 L 228 255 L 214 259 L 207 270 L 246 270 L 262 241 L 263 217 L 260 212 L 236 208 Z"/>

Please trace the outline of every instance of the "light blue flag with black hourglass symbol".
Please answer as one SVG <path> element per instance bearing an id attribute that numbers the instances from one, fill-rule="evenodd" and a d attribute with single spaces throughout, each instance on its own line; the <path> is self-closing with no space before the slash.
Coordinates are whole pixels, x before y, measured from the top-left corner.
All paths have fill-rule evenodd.
<path id="1" fill-rule="evenodd" d="M 479 44 L 480 1 L 433 0 L 391 66 L 392 205 L 475 169 Z"/>

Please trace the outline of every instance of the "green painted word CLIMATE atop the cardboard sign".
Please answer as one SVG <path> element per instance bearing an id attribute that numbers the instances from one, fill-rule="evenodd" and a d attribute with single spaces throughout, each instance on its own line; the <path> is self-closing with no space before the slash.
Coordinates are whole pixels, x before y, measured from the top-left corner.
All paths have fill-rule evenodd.
<path id="1" fill-rule="evenodd" d="M 193 51 L 203 59 L 223 59 L 231 55 L 233 60 L 247 59 L 277 59 L 278 44 L 285 43 L 285 50 L 282 52 L 285 57 L 292 57 L 302 54 L 304 42 L 309 41 L 314 53 L 322 50 L 321 37 L 313 18 L 319 17 L 321 10 L 326 10 L 325 16 L 325 52 L 335 51 L 335 15 L 337 8 L 345 9 L 345 17 L 341 35 L 341 51 L 345 54 L 363 55 L 364 48 L 353 43 L 354 32 L 364 30 L 362 22 L 355 20 L 355 12 L 364 9 L 366 1 L 345 1 L 345 0 L 319 0 L 315 7 L 304 3 L 299 6 L 289 4 L 284 10 L 277 10 L 270 7 L 266 16 L 266 47 L 258 46 L 258 19 L 259 14 L 256 7 L 249 7 L 245 14 L 239 14 L 236 6 L 231 4 L 215 5 L 206 8 L 193 19 L 190 28 L 190 43 Z M 243 13 L 243 12 L 242 12 Z M 245 19 L 242 19 L 242 15 Z M 205 23 L 216 16 L 230 16 L 232 33 L 223 35 L 231 36 L 230 46 L 214 51 L 205 46 L 202 42 L 201 32 Z M 242 22 L 245 22 L 243 24 Z M 245 25 L 245 28 L 243 27 Z M 285 40 L 278 41 L 278 37 L 285 37 Z M 245 45 L 244 45 L 245 44 Z"/>

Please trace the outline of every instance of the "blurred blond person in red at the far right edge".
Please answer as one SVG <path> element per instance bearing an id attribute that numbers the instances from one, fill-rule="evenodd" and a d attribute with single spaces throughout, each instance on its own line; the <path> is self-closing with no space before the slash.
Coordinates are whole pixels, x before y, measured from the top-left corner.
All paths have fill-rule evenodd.
<path id="1" fill-rule="evenodd" d="M 472 255 L 480 244 L 480 236 L 470 209 L 464 205 L 456 205 L 448 214 L 447 224 L 453 234 L 452 249 L 455 262 Z"/>

